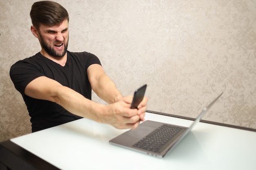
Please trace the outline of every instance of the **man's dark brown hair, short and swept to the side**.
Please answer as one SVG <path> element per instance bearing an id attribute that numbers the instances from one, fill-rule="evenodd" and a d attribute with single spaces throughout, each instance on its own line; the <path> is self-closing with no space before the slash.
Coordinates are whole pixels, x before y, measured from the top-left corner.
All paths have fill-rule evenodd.
<path id="1" fill-rule="evenodd" d="M 67 10 L 61 4 L 48 0 L 35 2 L 31 7 L 30 18 L 36 29 L 39 29 L 40 24 L 54 26 L 65 19 L 69 21 Z"/>

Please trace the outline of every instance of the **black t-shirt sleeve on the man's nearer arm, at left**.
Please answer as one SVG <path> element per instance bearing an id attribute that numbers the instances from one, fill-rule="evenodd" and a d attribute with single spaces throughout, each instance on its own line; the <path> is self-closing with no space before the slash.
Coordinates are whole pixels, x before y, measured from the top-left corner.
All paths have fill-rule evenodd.
<path id="1" fill-rule="evenodd" d="M 37 77 L 44 76 L 43 73 L 40 73 L 38 68 L 33 64 L 18 61 L 11 66 L 10 77 L 15 88 L 22 94 L 25 94 L 26 86 Z"/>

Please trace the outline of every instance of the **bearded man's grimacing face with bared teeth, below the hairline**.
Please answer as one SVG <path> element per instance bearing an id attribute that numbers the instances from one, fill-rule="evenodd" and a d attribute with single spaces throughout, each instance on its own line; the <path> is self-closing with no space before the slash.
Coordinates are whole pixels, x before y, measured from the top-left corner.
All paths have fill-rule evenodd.
<path id="1" fill-rule="evenodd" d="M 43 55 L 61 58 L 67 52 L 68 21 L 64 20 L 56 26 L 41 25 L 39 27 L 39 42 Z"/>

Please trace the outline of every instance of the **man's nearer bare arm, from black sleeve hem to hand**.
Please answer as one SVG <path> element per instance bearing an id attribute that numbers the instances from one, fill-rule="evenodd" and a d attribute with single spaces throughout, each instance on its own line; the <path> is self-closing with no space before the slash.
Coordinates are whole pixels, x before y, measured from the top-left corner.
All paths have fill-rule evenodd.
<path id="1" fill-rule="evenodd" d="M 137 128 L 139 125 L 140 117 L 136 109 L 129 108 L 130 104 L 124 101 L 110 105 L 98 104 L 45 76 L 31 81 L 25 88 L 25 94 L 36 99 L 56 102 L 70 113 L 116 128 Z"/>

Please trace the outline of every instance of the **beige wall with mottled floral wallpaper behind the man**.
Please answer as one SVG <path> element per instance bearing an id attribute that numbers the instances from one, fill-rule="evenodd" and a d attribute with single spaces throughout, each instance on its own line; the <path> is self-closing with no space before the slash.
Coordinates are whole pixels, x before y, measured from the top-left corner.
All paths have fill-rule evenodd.
<path id="1" fill-rule="evenodd" d="M 256 128 L 255 0 L 57 2 L 70 13 L 69 51 L 97 55 L 124 95 L 146 83 L 148 110 L 195 117 L 224 91 L 204 119 Z M 31 131 L 9 68 L 40 51 L 33 3 L 0 1 L 0 141 Z"/>

